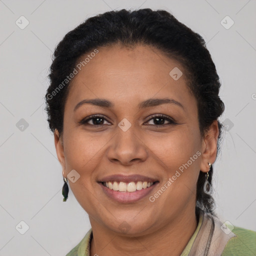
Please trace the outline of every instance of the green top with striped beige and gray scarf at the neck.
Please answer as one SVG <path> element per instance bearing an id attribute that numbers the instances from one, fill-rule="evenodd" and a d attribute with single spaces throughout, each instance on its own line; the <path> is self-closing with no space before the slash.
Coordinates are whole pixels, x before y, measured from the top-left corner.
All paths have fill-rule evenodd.
<path id="1" fill-rule="evenodd" d="M 223 223 L 219 219 L 200 210 L 197 227 L 180 256 L 199 256 L 200 254 L 205 256 L 256 255 L 255 231 L 226 224 L 228 229 L 225 229 L 226 233 L 224 233 L 220 226 L 223 226 Z M 207 235 L 205 235 L 206 232 Z M 92 256 L 89 255 L 91 239 L 92 229 L 90 228 L 82 240 L 66 256 Z"/>

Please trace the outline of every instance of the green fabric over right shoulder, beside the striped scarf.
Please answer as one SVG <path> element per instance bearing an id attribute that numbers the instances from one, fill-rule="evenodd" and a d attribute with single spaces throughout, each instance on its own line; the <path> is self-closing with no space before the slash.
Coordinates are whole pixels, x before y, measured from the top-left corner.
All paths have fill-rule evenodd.
<path id="1" fill-rule="evenodd" d="M 255 255 L 256 232 L 250 229 L 234 226 L 231 230 L 235 236 L 230 238 L 225 245 L 221 256 L 228 255 Z"/>

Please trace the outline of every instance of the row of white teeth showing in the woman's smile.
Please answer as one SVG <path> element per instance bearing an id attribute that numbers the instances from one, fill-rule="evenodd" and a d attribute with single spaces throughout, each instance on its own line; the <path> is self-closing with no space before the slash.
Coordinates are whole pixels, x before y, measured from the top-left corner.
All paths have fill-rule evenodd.
<path id="1" fill-rule="evenodd" d="M 128 183 L 125 182 L 116 182 L 116 181 L 108 181 L 103 182 L 103 184 L 108 187 L 109 189 L 115 190 L 115 191 L 128 191 L 128 192 L 134 192 L 136 190 L 145 189 L 153 184 L 153 182 L 146 182 L 146 181 L 137 181 L 136 183 L 131 181 Z"/>

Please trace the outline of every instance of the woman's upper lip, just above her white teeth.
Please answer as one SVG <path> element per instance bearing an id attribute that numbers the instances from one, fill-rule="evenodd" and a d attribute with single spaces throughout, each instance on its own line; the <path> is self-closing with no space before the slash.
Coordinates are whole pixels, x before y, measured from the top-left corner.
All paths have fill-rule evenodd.
<path id="1" fill-rule="evenodd" d="M 121 174 L 114 174 L 108 175 L 103 178 L 100 178 L 98 182 L 107 182 L 107 181 L 117 181 L 117 182 L 137 182 L 137 181 L 147 181 L 147 182 L 155 182 L 158 181 L 156 178 L 151 178 L 139 174 L 132 174 L 132 175 L 121 175 Z"/>

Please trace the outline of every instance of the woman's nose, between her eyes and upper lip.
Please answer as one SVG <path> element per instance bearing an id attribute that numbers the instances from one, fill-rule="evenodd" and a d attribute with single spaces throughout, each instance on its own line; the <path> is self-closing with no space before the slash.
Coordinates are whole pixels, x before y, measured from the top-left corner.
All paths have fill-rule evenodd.
<path id="1" fill-rule="evenodd" d="M 135 134 L 132 126 L 126 131 L 117 127 L 116 135 L 107 150 L 109 161 L 131 165 L 135 161 L 145 161 L 147 157 L 148 148 L 142 138 Z"/>

